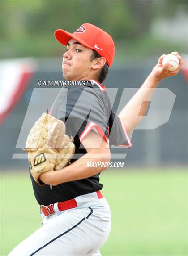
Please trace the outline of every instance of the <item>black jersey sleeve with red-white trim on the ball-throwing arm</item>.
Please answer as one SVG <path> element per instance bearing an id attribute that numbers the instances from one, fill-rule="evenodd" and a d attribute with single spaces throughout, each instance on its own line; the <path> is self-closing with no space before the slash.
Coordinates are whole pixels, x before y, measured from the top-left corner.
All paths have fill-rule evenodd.
<path id="1" fill-rule="evenodd" d="M 113 111 L 111 111 L 109 118 L 109 143 L 115 146 L 132 147 L 123 121 Z"/>

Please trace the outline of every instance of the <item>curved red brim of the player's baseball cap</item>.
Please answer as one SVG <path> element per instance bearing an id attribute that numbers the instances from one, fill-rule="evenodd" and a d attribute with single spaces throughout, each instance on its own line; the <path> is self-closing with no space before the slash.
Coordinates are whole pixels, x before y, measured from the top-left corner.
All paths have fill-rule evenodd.
<path id="1" fill-rule="evenodd" d="M 81 45 L 84 45 L 85 47 L 88 47 L 90 49 L 94 49 L 93 46 L 88 45 L 84 40 L 82 40 L 79 36 L 76 36 L 74 34 L 71 34 L 67 31 L 64 31 L 62 29 L 57 29 L 54 33 L 54 36 L 56 37 L 56 40 L 60 42 L 62 45 L 67 45 L 68 41 L 73 38 Z"/>

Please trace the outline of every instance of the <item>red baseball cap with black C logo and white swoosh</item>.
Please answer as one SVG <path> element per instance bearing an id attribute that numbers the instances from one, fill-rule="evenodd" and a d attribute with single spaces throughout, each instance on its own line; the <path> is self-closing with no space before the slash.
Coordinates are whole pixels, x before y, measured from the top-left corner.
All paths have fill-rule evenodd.
<path id="1" fill-rule="evenodd" d="M 102 57 L 106 58 L 109 67 L 113 62 L 115 53 L 113 39 L 107 32 L 93 24 L 85 23 L 78 27 L 73 34 L 62 29 L 57 29 L 54 36 L 63 45 L 67 45 L 68 41 L 73 38 L 81 45 L 94 49 Z"/>

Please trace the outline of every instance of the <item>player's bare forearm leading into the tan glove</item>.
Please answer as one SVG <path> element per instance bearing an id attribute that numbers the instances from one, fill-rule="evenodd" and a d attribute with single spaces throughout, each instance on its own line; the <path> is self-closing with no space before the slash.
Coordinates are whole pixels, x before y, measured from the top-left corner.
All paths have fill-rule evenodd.
<path id="1" fill-rule="evenodd" d="M 99 167 L 88 167 L 87 162 L 92 162 L 92 166 L 98 166 L 98 162 L 102 162 Z M 48 171 L 40 175 L 40 180 L 45 184 L 56 186 L 58 184 L 73 180 L 81 180 L 107 169 L 107 162 L 110 162 L 109 154 L 87 153 L 71 165 L 64 167 L 59 171 Z M 96 163 L 96 165 L 95 165 Z"/>

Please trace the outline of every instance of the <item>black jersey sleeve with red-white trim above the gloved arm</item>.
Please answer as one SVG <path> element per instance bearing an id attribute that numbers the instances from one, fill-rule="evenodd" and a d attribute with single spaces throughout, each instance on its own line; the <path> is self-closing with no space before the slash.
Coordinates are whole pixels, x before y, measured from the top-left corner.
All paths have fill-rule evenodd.
<path id="1" fill-rule="evenodd" d="M 68 135 L 73 138 L 78 136 L 80 143 L 91 130 L 109 143 L 105 106 L 98 88 L 70 88 L 66 102 L 64 100 L 61 103 L 57 118 L 65 121 Z"/>

